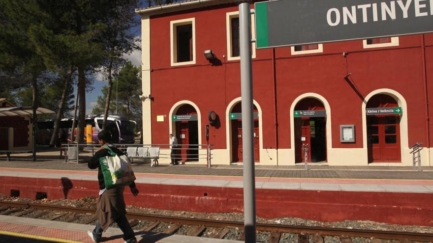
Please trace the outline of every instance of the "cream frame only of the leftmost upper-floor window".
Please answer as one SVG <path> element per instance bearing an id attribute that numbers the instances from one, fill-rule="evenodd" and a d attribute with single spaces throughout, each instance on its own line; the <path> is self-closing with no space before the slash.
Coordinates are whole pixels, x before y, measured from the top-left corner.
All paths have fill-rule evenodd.
<path id="1" fill-rule="evenodd" d="M 178 62 L 176 27 L 183 25 L 192 25 L 192 60 Z M 170 21 L 170 62 L 171 66 L 195 64 L 195 18 Z"/>

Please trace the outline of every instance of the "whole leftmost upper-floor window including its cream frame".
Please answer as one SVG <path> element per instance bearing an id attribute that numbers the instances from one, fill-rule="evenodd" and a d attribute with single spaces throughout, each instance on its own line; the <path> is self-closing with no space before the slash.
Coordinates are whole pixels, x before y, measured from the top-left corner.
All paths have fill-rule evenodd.
<path id="1" fill-rule="evenodd" d="M 170 22 L 171 66 L 195 64 L 195 19 Z"/>

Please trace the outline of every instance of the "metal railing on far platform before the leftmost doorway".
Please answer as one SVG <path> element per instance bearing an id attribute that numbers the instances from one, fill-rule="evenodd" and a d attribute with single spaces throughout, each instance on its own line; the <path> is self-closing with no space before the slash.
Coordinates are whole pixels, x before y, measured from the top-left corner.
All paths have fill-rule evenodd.
<path id="1" fill-rule="evenodd" d="M 182 160 L 183 163 L 188 161 L 198 161 L 200 159 L 206 159 L 207 164 L 210 165 L 212 161 L 212 147 L 213 144 L 178 144 L 176 148 L 172 148 L 170 144 L 127 144 L 127 143 L 114 143 L 114 146 L 119 148 L 121 151 L 126 152 L 128 147 L 159 147 L 163 149 L 163 152 L 159 153 L 160 159 L 175 159 Z M 64 162 L 80 162 L 80 153 L 87 152 L 91 153 L 92 156 L 99 149 L 99 144 L 94 143 L 83 143 L 70 142 L 61 144 L 60 156 L 64 152 Z M 172 156 L 171 151 L 175 151 Z M 206 150 L 206 152 L 201 152 Z M 167 153 L 168 152 L 168 153 Z M 208 166 L 210 167 L 210 166 Z"/>

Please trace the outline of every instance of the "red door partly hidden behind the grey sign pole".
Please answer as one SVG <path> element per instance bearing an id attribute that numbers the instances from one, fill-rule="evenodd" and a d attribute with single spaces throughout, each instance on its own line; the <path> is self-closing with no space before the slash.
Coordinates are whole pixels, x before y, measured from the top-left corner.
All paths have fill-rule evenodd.
<path id="1" fill-rule="evenodd" d="M 233 162 L 243 162 L 242 120 L 232 120 L 232 155 Z M 254 121 L 254 162 L 259 162 L 259 121 Z"/>

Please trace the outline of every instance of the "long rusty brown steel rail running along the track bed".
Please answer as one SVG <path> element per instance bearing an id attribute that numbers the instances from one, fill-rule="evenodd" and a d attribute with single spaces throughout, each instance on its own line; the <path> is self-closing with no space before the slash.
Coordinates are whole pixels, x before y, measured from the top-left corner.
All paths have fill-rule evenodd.
<path id="1" fill-rule="evenodd" d="M 75 212 L 80 214 L 94 214 L 95 209 L 66 207 L 59 205 L 47 204 L 30 204 L 22 202 L 0 201 L 0 206 L 23 209 L 38 209 L 38 210 L 56 210 L 62 212 Z M 227 221 L 201 218 L 187 218 L 174 216 L 159 216 L 140 213 L 127 213 L 130 219 L 161 221 L 167 223 L 181 223 L 187 225 L 203 225 L 206 227 L 237 227 L 243 228 L 242 221 Z M 258 231 L 279 232 L 279 233 L 295 233 L 295 234 L 311 234 L 322 236 L 345 236 L 345 237 L 364 237 L 384 240 L 400 240 L 400 241 L 416 241 L 416 242 L 433 242 L 433 234 L 418 233 L 418 232 L 399 232 L 399 231 L 383 231 L 383 230 L 363 230 L 363 229 L 347 229 L 347 228 L 326 228 L 326 227 L 311 227 L 297 225 L 281 225 L 281 224 L 266 224 L 257 223 Z"/>

